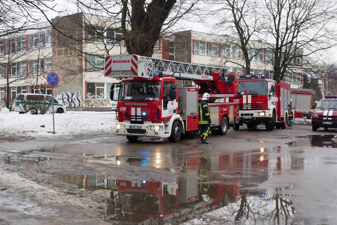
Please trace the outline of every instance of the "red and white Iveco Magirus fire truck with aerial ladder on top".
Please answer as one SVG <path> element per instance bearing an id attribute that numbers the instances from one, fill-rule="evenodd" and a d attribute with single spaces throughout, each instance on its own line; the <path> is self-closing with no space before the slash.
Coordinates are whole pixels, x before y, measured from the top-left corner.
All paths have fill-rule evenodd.
<path id="1" fill-rule="evenodd" d="M 225 135 L 239 122 L 237 78 L 228 80 L 228 71 L 184 62 L 139 55 L 105 57 L 105 77 L 118 84 L 116 134 L 129 141 L 138 137 L 168 138 L 177 142 L 198 131 L 198 100 L 209 93 L 212 134 Z M 177 80 L 183 85 L 177 86 Z M 190 83 L 188 85 L 188 82 Z M 114 96 L 115 85 L 110 96 Z"/>

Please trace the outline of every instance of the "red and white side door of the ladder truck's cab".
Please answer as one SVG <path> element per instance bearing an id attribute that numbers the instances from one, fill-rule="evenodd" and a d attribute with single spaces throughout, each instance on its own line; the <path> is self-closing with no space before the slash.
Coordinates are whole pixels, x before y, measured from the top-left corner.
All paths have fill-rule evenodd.
<path id="1" fill-rule="evenodd" d="M 171 84 L 173 82 L 165 81 L 163 87 L 163 100 L 161 106 L 161 116 L 171 116 L 176 114 L 176 109 L 178 108 L 177 99 L 171 99 L 170 92 L 171 92 Z"/>

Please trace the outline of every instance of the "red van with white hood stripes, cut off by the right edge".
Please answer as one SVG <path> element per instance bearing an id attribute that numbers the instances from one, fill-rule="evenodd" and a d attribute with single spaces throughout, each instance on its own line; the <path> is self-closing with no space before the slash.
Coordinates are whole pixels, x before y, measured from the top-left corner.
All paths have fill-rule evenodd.
<path id="1" fill-rule="evenodd" d="M 312 130 L 337 128 L 337 96 L 325 96 L 318 101 L 312 114 Z"/>

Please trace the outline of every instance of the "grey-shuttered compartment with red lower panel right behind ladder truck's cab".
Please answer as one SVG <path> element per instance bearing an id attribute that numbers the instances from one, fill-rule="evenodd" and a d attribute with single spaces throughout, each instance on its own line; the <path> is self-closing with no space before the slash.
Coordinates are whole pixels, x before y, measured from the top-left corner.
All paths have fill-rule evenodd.
<path id="1" fill-rule="evenodd" d="M 178 87 L 178 113 L 185 121 L 185 131 L 198 130 L 198 88 Z"/>

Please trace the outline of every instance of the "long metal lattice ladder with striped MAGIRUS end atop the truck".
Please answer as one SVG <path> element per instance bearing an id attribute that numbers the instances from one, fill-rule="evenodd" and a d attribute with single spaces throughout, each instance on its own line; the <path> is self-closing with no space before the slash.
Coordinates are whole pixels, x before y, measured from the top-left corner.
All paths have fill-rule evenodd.
<path id="1" fill-rule="evenodd" d="M 126 77 L 172 76 L 181 80 L 213 80 L 213 72 L 228 76 L 222 67 L 205 66 L 138 55 L 115 55 L 105 57 L 105 77 L 122 79 Z"/>

